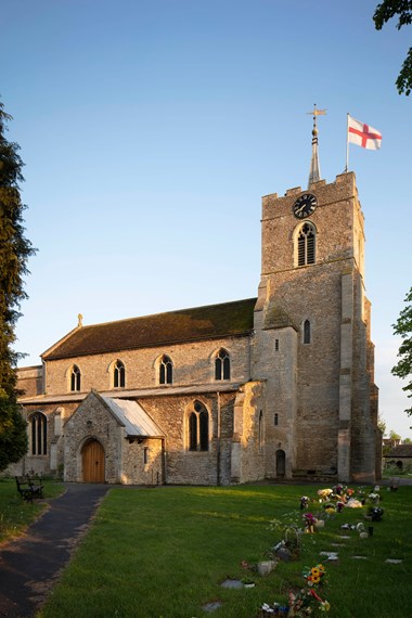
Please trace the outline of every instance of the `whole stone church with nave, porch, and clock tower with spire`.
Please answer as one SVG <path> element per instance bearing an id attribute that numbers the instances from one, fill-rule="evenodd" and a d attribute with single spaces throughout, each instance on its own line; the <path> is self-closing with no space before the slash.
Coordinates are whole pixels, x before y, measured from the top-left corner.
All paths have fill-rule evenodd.
<path id="1" fill-rule="evenodd" d="M 316 117 L 314 117 L 316 120 Z M 129 485 L 374 482 L 381 432 L 353 172 L 262 198 L 257 295 L 78 325 L 18 370 L 13 474 Z"/>

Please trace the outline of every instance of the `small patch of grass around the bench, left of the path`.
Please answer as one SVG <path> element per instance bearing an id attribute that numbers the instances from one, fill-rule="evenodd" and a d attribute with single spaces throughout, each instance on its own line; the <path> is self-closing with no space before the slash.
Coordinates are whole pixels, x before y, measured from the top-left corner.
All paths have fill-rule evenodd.
<path id="1" fill-rule="evenodd" d="M 20 537 L 37 517 L 48 507 L 51 499 L 63 491 L 63 486 L 53 480 L 43 480 L 43 500 L 33 503 L 22 500 L 17 493 L 15 479 L 0 478 L 0 545 Z"/>

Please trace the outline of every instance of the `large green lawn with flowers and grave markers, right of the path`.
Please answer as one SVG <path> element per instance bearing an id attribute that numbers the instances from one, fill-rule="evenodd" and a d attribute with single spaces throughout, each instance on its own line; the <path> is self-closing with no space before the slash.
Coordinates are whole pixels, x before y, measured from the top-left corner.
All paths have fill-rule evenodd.
<path id="1" fill-rule="evenodd" d="M 317 498 L 319 487 L 112 489 L 39 616 L 199 618 L 210 615 L 204 604 L 220 601 L 214 617 L 255 618 L 263 602 L 285 604 L 287 591 L 304 584 L 305 566 L 320 562 L 327 570 L 322 596 L 331 617 L 412 616 L 412 487 L 382 489 L 384 517 L 373 523 L 372 537 L 342 530 L 364 522 L 366 512 L 344 508 L 321 531 L 302 535 L 297 559 L 280 562 L 266 577 L 242 567 L 242 561 L 267 559 L 282 539 L 269 522 L 300 519 L 300 497 Z M 322 551 L 337 552 L 338 561 L 325 561 Z M 220 585 L 245 576 L 255 588 Z"/>

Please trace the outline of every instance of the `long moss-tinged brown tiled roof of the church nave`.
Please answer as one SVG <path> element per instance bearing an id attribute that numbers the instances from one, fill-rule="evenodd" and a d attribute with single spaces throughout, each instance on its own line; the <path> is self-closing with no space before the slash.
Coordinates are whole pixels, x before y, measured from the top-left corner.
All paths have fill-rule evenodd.
<path id="1" fill-rule="evenodd" d="M 79 326 L 49 348 L 44 360 L 246 335 L 256 298 Z"/>

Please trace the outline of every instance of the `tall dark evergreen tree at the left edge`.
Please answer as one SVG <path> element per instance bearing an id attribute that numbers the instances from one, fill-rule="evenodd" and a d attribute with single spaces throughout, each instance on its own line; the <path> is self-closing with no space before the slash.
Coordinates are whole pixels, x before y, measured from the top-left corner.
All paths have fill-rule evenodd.
<path id="1" fill-rule="evenodd" d="M 26 422 L 16 390 L 16 365 L 22 355 L 14 351 L 13 344 L 18 309 L 26 298 L 23 275 L 28 272 L 28 257 L 35 253 L 24 236 L 20 147 L 4 137 L 11 119 L 0 102 L 0 471 L 27 452 Z"/>

